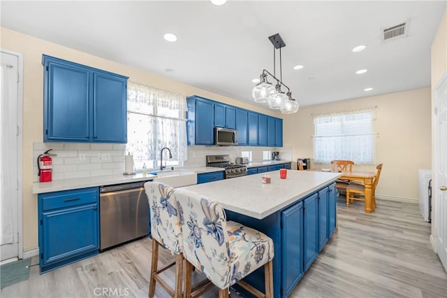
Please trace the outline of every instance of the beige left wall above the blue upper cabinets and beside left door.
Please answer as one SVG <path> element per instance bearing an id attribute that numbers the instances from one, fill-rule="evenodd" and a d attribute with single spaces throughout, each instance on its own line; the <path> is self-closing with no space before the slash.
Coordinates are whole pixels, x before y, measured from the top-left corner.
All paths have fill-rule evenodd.
<path id="1" fill-rule="evenodd" d="M 281 117 L 271 110 L 244 104 L 241 101 L 223 97 L 219 94 L 200 90 L 196 87 L 155 76 L 151 73 L 118 64 L 107 59 L 89 55 L 85 52 L 66 48 L 55 43 L 43 41 L 17 31 L 0 27 L 3 50 L 20 52 L 24 57 L 23 90 L 23 247 L 24 250 L 38 246 L 37 196 L 32 194 L 33 183 L 33 143 L 43 141 L 43 66 L 42 54 L 66 59 L 88 66 L 129 76 L 129 80 L 170 90 L 186 96 L 197 94 L 217 101 L 248 108 L 259 113 Z"/>

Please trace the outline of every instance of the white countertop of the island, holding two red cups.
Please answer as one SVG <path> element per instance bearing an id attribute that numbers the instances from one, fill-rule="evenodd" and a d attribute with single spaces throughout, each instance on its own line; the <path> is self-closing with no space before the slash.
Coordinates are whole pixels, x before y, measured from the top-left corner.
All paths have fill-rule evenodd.
<path id="1" fill-rule="evenodd" d="M 270 184 L 262 183 L 264 175 L 270 175 Z M 217 201 L 229 211 L 263 219 L 339 176 L 340 173 L 287 170 L 287 178 L 281 179 L 279 171 L 270 171 L 181 188 Z"/>

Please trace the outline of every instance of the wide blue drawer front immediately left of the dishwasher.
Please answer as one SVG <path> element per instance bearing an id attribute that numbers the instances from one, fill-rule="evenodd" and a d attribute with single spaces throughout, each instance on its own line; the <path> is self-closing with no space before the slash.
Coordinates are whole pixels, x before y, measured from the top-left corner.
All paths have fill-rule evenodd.
<path id="1" fill-rule="evenodd" d="M 97 203 L 98 187 L 49 192 L 47 194 L 39 194 L 39 197 L 42 199 L 42 211 Z"/>

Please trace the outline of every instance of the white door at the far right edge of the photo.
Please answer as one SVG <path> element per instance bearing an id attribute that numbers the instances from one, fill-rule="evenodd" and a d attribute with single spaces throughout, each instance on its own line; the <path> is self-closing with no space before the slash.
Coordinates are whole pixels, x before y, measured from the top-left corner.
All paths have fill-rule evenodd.
<path id="1" fill-rule="evenodd" d="M 447 271 L 447 76 L 434 92 L 434 250 Z"/>

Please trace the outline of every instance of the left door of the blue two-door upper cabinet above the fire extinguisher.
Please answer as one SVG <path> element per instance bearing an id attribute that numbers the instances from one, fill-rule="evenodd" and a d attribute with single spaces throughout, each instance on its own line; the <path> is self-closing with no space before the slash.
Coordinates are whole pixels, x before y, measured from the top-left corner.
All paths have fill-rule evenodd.
<path id="1" fill-rule="evenodd" d="M 90 72 L 52 60 L 44 72 L 43 141 L 88 142 Z"/>

